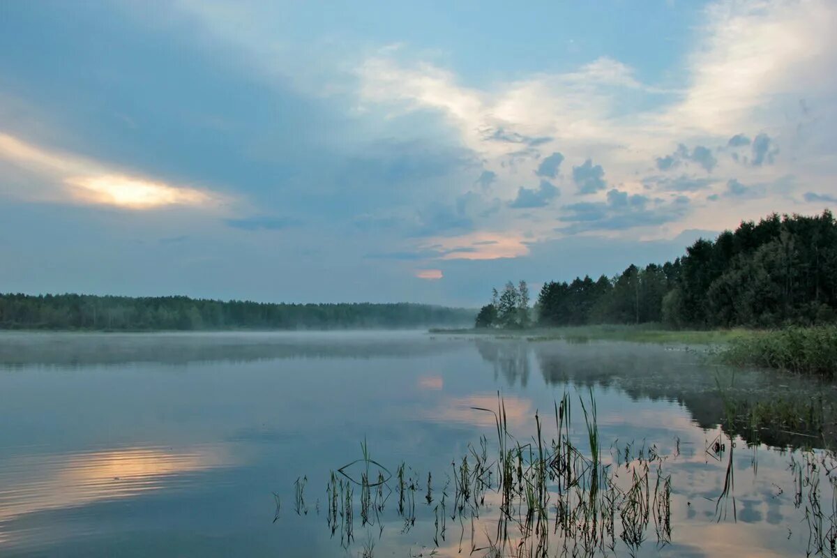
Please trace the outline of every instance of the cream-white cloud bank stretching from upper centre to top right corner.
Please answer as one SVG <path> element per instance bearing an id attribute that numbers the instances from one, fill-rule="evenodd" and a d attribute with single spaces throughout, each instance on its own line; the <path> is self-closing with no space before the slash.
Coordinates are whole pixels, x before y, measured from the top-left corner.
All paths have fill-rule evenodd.
<path id="1" fill-rule="evenodd" d="M 359 67 L 359 98 L 367 109 L 382 104 L 393 116 L 437 111 L 460 133 L 465 146 L 483 157 L 485 168 L 496 173 L 486 195 L 506 202 L 521 186 L 536 185 L 521 185 L 521 177 L 536 171 L 538 157 L 552 151 L 566 156 L 567 167 L 592 158 L 602 164 L 608 182 L 640 193 L 655 158 L 681 143 L 715 149 L 736 134 L 767 132 L 781 145 L 800 133 L 793 110 L 801 115 L 803 98 L 814 100 L 806 107 L 827 107 L 834 120 L 837 4 L 722 0 L 707 7 L 703 18 L 691 54 L 680 63 L 686 76 L 678 90 L 643 84 L 633 69 L 611 58 L 595 59 L 564 74 L 533 74 L 478 89 L 438 65 L 403 62 L 402 48 L 376 54 Z M 804 112 L 808 117 L 808 110 Z M 830 141 L 820 141 L 820 150 L 833 150 L 830 130 L 824 132 Z M 498 131 L 514 141 L 498 141 Z M 526 138 L 537 139 L 537 146 L 526 144 Z M 833 156 L 793 152 L 785 146 L 778 152 L 769 169 L 742 169 L 722 154 L 714 161 L 711 151 L 707 161 L 712 158 L 711 171 L 719 184 L 733 178 L 770 182 L 793 174 L 809 187 L 827 188 L 837 171 Z M 805 161 L 817 161 L 818 171 Z M 718 223 L 716 208 L 705 202 L 706 192 L 687 194 L 696 212 L 691 220 L 705 219 L 721 228 L 740 218 L 757 218 L 766 207 L 763 201 L 748 200 L 736 207 L 732 222 Z M 773 197 L 770 211 L 787 211 L 787 194 Z M 552 219 L 561 214 L 552 214 Z M 524 226 L 538 239 L 553 234 L 537 219 L 524 225 L 508 212 L 490 218 L 491 228 L 505 227 L 511 235 Z"/>

